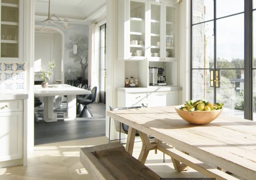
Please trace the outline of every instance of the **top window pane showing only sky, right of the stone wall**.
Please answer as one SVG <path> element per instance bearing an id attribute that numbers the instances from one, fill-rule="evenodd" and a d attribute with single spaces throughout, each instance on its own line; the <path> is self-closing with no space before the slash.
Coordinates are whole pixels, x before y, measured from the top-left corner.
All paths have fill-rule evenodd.
<path id="1" fill-rule="evenodd" d="M 228 16 L 245 11 L 245 0 L 217 0 L 216 17 Z"/>

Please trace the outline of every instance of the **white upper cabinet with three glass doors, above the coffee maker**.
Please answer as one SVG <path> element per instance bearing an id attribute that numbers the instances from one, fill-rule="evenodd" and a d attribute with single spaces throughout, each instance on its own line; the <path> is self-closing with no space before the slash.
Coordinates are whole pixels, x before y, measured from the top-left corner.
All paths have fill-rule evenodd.
<path id="1" fill-rule="evenodd" d="M 170 4 L 118 1 L 118 60 L 139 87 L 150 87 L 149 67 L 164 68 L 167 86 L 178 86 L 178 5 Z"/>

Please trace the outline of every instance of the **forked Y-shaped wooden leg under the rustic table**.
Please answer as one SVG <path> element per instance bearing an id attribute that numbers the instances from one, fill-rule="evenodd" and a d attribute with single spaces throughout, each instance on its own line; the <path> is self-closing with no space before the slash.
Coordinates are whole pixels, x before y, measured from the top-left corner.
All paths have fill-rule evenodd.
<path id="1" fill-rule="evenodd" d="M 146 159 L 148 157 L 148 152 L 150 150 L 156 149 L 156 144 L 150 143 L 147 134 L 142 133 L 140 131 L 138 131 L 138 132 L 139 132 L 140 138 L 142 140 L 142 149 L 140 151 L 140 156 L 139 156 L 138 160 L 140 162 L 142 162 L 143 164 L 145 164 Z"/>

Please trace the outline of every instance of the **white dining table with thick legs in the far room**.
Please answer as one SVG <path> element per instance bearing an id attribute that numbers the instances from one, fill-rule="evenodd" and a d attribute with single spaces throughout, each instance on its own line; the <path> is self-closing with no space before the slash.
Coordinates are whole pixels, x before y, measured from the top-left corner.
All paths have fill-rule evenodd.
<path id="1" fill-rule="evenodd" d="M 54 113 L 54 96 L 67 95 L 67 112 L 64 113 L 64 120 L 73 120 L 76 118 L 76 95 L 82 94 L 91 94 L 91 91 L 67 84 L 49 85 L 47 88 L 34 85 L 34 96 L 44 97 L 44 120 L 46 122 L 57 121 L 57 113 Z"/>

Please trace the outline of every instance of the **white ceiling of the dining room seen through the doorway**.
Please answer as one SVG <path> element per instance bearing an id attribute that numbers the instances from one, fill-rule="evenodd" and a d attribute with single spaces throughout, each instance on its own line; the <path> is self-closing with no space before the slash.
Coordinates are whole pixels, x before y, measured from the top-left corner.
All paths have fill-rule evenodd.
<path id="1" fill-rule="evenodd" d="M 106 14 L 107 0 L 51 0 L 50 15 L 57 17 L 68 17 L 69 19 L 85 20 L 88 17 Z M 36 0 L 35 15 L 36 20 L 48 16 L 49 0 Z M 103 8 L 105 6 L 105 8 Z M 101 15 L 102 16 L 102 15 Z M 100 17 L 98 17 L 100 18 Z M 96 20 L 96 19 L 95 19 Z"/>

